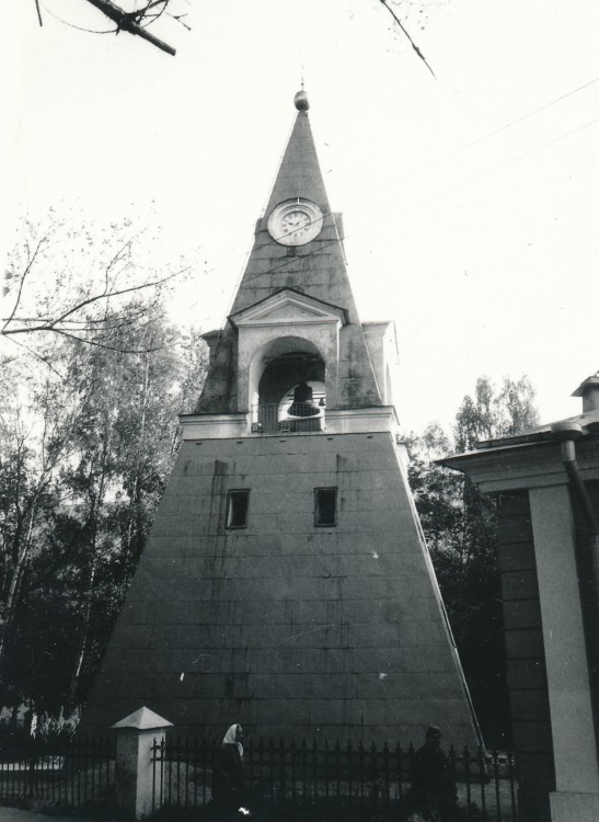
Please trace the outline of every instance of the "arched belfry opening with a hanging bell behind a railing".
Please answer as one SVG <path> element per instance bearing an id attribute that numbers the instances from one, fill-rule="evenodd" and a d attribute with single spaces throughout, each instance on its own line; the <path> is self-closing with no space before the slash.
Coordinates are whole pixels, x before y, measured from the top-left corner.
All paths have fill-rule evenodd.
<path id="1" fill-rule="evenodd" d="M 321 431 L 326 406 L 325 364 L 312 343 L 287 338 L 262 356 L 254 391 L 254 432 Z"/>

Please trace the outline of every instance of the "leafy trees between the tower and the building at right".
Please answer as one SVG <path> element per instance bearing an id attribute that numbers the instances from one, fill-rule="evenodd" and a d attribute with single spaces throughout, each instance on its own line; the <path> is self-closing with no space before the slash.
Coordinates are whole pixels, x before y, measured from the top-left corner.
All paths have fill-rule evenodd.
<path id="1" fill-rule="evenodd" d="M 407 439 L 411 486 L 485 741 L 509 742 L 495 501 L 435 463 L 476 442 L 538 424 L 527 377 L 496 388 L 481 377 L 464 397 L 452 437 L 438 425 Z"/>

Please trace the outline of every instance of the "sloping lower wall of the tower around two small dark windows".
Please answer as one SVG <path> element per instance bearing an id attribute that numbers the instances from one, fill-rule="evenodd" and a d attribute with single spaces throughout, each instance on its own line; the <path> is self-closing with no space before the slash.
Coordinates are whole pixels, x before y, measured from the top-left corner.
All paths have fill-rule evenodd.
<path id="1" fill-rule="evenodd" d="M 146 705 L 177 733 L 475 744 L 398 455 L 389 433 L 185 442 L 84 724 Z"/>

